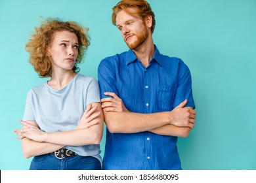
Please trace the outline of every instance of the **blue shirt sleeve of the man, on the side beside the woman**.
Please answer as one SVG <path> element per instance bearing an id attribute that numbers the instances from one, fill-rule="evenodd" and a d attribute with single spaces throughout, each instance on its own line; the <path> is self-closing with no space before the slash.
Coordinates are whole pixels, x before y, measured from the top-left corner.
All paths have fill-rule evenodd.
<path id="1" fill-rule="evenodd" d="M 112 62 L 108 59 L 103 59 L 98 65 L 98 84 L 100 86 L 100 98 L 110 96 L 104 95 L 104 92 L 113 92 L 119 96 L 116 89 L 116 70 Z"/>

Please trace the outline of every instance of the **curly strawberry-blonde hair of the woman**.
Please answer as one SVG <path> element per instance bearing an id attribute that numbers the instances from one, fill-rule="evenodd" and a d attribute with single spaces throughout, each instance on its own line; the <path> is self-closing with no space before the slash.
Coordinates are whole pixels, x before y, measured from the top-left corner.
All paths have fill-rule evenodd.
<path id="1" fill-rule="evenodd" d="M 35 72 L 42 78 L 51 77 L 51 58 L 48 56 L 48 48 L 53 41 L 53 35 L 56 31 L 68 31 L 75 33 L 78 39 L 78 56 L 75 60 L 72 71 L 79 72 L 77 63 L 81 63 L 85 51 L 90 45 L 90 37 L 88 35 L 88 28 L 84 28 L 76 22 L 62 22 L 58 19 L 49 18 L 41 24 L 40 27 L 35 27 L 35 33 L 26 44 L 26 52 L 30 54 L 30 63 L 33 65 Z"/>

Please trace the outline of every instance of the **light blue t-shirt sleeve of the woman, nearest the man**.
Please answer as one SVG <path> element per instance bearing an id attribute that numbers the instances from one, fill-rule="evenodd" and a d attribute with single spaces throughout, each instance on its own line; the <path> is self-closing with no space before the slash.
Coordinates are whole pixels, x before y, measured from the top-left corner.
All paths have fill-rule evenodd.
<path id="1" fill-rule="evenodd" d="M 86 97 L 86 106 L 90 103 L 100 102 L 100 90 L 98 88 L 98 82 L 95 78 L 92 78 L 88 88 L 87 88 L 87 97 Z"/>

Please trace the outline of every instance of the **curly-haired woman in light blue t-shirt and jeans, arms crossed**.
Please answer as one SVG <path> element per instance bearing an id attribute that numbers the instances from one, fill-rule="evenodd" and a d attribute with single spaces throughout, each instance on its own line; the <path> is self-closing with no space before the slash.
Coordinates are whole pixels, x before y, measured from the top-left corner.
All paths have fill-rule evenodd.
<path id="1" fill-rule="evenodd" d="M 53 19 L 26 44 L 35 72 L 51 77 L 28 92 L 23 127 L 14 131 L 24 156 L 34 156 L 30 169 L 101 169 L 98 83 L 77 74 L 89 44 L 87 29 Z"/>

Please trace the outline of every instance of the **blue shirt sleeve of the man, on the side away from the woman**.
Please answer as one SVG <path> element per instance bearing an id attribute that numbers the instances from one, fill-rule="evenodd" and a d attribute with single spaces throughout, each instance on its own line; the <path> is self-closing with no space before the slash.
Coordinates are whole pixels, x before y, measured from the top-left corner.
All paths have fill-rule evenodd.
<path id="1" fill-rule="evenodd" d="M 188 69 L 188 66 L 183 61 L 181 61 L 179 65 L 178 88 L 176 91 L 173 107 L 177 107 L 185 99 L 188 100 L 188 103 L 185 107 L 196 108 L 192 95 L 192 79 L 190 75 L 190 70 Z"/>

